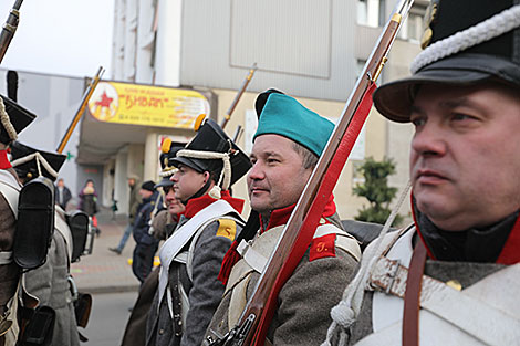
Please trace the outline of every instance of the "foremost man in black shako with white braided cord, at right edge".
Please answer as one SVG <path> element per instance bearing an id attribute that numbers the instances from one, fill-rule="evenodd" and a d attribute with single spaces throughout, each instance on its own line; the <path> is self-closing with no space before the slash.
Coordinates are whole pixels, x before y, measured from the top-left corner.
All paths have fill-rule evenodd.
<path id="1" fill-rule="evenodd" d="M 414 222 L 365 250 L 324 345 L 520 343 L 520 2 L 435 0 L 425 19 L 413 75 L 374 94 L 415 127 Z"/>

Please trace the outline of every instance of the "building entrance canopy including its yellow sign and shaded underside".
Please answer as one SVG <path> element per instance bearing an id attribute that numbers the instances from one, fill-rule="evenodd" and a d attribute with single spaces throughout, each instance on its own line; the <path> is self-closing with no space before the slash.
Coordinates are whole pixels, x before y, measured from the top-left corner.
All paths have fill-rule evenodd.
<path id="1" fill-rule="evenodd" d="M 102 81 L 83 117 L 79 164 L 103 164 L 128 144 L 144 144 L 149 129 L 191 136 L 201 113 L 216 117 L 210 91 Z"/>

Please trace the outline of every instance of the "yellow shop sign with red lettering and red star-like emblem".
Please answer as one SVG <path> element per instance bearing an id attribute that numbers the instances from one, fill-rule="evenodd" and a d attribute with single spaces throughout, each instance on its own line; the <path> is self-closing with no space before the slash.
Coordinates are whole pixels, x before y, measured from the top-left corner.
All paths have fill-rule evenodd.
<path id="1" fill-rule="evenodd" d="M 105 123 L 191 129 L 199 114 L 209 114 L 209 103 L 190 90 L 100 82 L 89 111 Z"/>

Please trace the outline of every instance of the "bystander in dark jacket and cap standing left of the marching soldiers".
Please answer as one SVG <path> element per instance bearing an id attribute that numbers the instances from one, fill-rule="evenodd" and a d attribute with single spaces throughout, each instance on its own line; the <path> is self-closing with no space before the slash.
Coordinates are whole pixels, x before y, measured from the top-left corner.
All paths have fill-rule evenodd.
<path id="1" fill-rule="evenodd" d="M 135 249 L 132 262 L 134 275 L 143 283 L 154 265 L 154 255 L 159 242 L 148 232 L 158 192 L 152 180 L 143 182 L 139 195 L 143 198 L 134 221 Z"/>

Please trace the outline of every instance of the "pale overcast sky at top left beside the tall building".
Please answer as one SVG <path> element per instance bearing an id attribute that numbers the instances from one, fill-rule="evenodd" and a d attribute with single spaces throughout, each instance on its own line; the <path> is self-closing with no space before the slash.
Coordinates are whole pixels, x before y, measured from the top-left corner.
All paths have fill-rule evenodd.
<path id="1" fill-rule="evenodd" d="M 6 22 L 14 0 L 0 1 Z M 3 69 L 69 76 L 111 75 L 114 0 L 24 0 Z"/>

